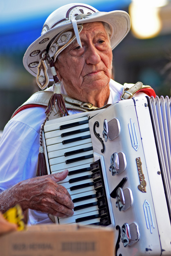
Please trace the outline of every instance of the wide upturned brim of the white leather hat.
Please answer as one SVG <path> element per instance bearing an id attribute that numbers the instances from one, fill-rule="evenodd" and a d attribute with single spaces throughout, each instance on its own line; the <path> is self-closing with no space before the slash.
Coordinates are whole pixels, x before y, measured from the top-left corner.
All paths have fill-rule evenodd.
<path id="1" fill-rule="evenodd" d="M 77 24 L 89 23 L 89 22 L 106 22 L 111 27 L 110 44 L 113 50 L 128 34 L 131 22 L 130 16 L 124 11 L 111 11 L 111 12 L 96 12 L 87 18 L 77 20 Z M 46 33 L 41 35 L 36 41 L 34 41 L 27 49 L 23 57 L 23 64 L 26 70 L 36 77 L 37 65 L 40 61 L 39 54 L 47 48 L 49 42 L 57 34 L 62 32 L 64 29 L 72 26 L 72 22 L 68 21 L 65 24 L 60 24 L 51 28 Z M 53 76 L 48 66 L 48 75 L 50 80 L 53 80 Z"/>

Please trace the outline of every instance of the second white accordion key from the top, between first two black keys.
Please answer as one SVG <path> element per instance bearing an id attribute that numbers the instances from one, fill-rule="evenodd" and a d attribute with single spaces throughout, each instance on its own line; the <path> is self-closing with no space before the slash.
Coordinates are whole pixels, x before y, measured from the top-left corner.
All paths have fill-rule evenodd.
<path id="1" fill-rule="evenodd" d="M 71 127 L 71 128 L 66 128 L 63 130 L 54 130 L 54 131 L 45 132 L 44 136 L 45 136 L 45 139 L 47 140 L 47 139 L 61 136 L 61 134 L 65 133 L 65 132 L 75 131 L 78 129 L 80 130 L 80 129 L 84 129 L 84 128 L 89 128 L 89 124 L 79 125 L 79 126 L 75 126 L 75 127 Z M 80 133 L 77 133 L 77 134 L 80 134 Z M 67 137 L 67 136 L 65 136 L 65 137 Z M 63 137 L 63 138 L 65 138 L 65 137 Z"/>

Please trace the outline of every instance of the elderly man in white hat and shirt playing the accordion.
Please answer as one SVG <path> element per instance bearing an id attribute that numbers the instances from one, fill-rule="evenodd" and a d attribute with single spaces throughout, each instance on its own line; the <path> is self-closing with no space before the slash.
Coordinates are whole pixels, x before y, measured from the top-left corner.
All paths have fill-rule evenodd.
<path id="1" fill-rule="evenodd" d="M 4 128 L 0 141 L 2 212 L 19 203 L 24 211 L 29 209 L 30 224 L 52 223 L 48 214 L 73 215 L 74 204 L 68 191 L 56 183 L 66 178 L 68 170 L 36 177 L 37 157 L 42 153 L 40 127 L 54 104 L 59 110 L 54 116 L 57 118 L 89 111 L 89 106 L 92 110 L 113 104 L 125 95 L 155 96 L 152 88 L 142 85 L 126 84 L 124 93 L 124 86 L 111 79 L 112 50 L 129 29 L 126 12 L 98 12 L 87 4 L 68 4 L 48 17 L 41 36 L 27 49 L 23 62 L 41 89 L 48 86 L 49 80 L 54 80 L 54 85 L 18 108 Z M 62 95 L 68 95 L 73 104 L 68 106 Z"/>

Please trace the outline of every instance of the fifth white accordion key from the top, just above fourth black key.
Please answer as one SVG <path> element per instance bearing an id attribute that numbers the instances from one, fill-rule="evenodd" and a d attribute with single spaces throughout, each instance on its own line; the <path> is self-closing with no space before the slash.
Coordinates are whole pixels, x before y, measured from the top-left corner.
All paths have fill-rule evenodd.
<path id="1" fill-rule="evenodd" d="M 86 148 L 90 148 L 90 147 L 92 147 L 92 143 L 86 143 L 86 144 L 79 145 L 79 146 L 73 146 L 69 149 L 56 150 L 53 152 L 49 152 L 48 158 L 51 159 L 51 158 L 55 158 L 55 157 L 64 156 L 64 154 L 67 152 L 72 152 L 74 150 L 79 150 L 79 149 L 86 149 Z M 76 155 L 76 154 L 74 154 L 74 155 Z"/>

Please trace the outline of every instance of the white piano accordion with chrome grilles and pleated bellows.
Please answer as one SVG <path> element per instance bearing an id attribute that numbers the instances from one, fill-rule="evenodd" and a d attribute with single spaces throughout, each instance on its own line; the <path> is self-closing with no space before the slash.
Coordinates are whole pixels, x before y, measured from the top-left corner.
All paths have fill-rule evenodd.
<path id="1" fill-rule="evenodd" d="M 47 121 L 48 172 L 69 170 L 75 205 L 56 223 L 113 227 L 116 255 L 171 255 L 170 104 L 133 98 Z"/>

